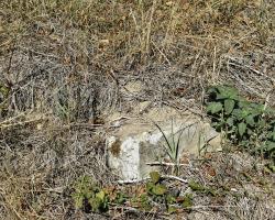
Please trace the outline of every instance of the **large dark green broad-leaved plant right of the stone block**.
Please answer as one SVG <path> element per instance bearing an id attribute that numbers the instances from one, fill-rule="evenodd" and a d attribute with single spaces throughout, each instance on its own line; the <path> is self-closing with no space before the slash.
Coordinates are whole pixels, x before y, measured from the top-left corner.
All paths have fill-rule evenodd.
<path id="1" fill-rule="evenodd" d="M 274 158 L 274 109 L 248 101 L 230 86 L 215 86 L 207 94 L 207 113 L 216 130 L 223 131 L 229 140 L 253 153 Z"/>

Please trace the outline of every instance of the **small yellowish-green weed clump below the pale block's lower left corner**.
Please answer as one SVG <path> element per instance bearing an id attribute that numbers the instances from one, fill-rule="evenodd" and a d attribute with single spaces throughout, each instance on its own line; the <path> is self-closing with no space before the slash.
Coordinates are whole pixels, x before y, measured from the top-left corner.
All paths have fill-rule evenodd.
<path id="1" fill-rule="evenodd" d="M 89 176 L 80 177 L 75 186 L 75 193 L 72 195 L 76 208 L 82 208 L 86 212 L 106 212 L 109 209 L 108 194 L 92 183 Z"/>

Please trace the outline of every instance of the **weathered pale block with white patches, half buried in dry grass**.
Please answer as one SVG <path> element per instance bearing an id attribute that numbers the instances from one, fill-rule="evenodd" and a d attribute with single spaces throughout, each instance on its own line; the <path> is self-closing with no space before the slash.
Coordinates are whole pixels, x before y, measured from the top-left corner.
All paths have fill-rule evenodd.
<path id="1" fill-rule="evenodd" d="M 180 114 L 169 107 L 152 108 L 140 118 L 124 118 L 123 123 L 116 122 L 117 128 L 107 138 L 108 164 L 122 179 L 144 178 L 152 170 L 146 163 L 168 158 L 164 136 L 152 120 L 170 143 L 173 135 L 176 141 L 179 139 L 179 160 L 184 153 L 198 155 L 205 146 L 208 151 L 221 147 L 220 134 L 190 112 Z"/>

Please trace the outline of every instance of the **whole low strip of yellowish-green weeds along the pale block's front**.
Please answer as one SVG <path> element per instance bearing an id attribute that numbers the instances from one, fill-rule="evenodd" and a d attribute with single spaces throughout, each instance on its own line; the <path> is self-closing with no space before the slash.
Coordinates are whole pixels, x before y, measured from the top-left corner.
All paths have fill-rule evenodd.
<path id="1" fill-rule="evenodd" d="M 76 208 L 85 212 L 107 212 L 111 206 L 130 204 L 134 208 L 151 211 L 155 205 L 164 207 L 167 213 L 175 213 L 180 209 L 193 206 L 193 195 L 180 196 L 180 190 L 174 190 L 163 183 L 164 177 L 158 172 L 150 174 L 150 182 L 142 193 L 125 195 L 117 187 L 99 187 L 89 176 L 81 176 L 74 185 L 72 198 Z M 143 186 L 144 187 L 144 186 Z M 206 190 L 205 188 L 201 190 Z"/>

